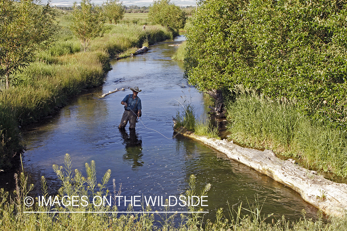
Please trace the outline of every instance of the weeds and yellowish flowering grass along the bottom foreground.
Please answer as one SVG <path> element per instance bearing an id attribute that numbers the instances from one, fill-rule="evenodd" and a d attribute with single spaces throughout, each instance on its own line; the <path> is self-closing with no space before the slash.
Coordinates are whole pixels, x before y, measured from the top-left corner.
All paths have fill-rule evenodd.
<path id="1" fill-rule="evenodd" d="M 32 206 L 25 206 L 24 199 L 30 195 L 30 190 L 33 185 L 27 184 L 27 177 L 22 173 L 16 175 L 17 187 L 15 190 L 15 197 L 9 198 L 8 193 L 0 189 L 0 229 L 1 230 L 163 230 L 163 231 L 197 231 L 197 230 L 254 230 L 254 231 L 332 231 L 332 230 L 346 230 L 347 217 L 332 217 L 329 223 L 323 223 L 322 214 L 319 215 L 318 221 L 312 221 L 305 218 L 305 211 L 302 211 L 302 219 L 293 223 L 287 222 L 284 217 L 281 220 L 276 220 L 272 215 L 264 215 L 261 212 L 260 203 L 255 201 L 247 214 L 242 214 L 242 204 L 235 211 L 226 211 L 223 213 L 222 209 L 216 212 L 215 221 L 205 221 L 198 213 L 188 215 L 181 215 L 179 223 L 174 222 L 174 217 L 177 214 L 117 214 L 116 201 L 112 204 L 95 206 L 92 203 L 92 198 L 98 196 L 114 196 L 119 195 L 116 182 L 113 180 L 113 191 L 105 187 L 111 178 L 111 171 L 108 170 L 100 183 L 97 182 L 95 172 L 95 162 L 91 161 L 86 163 L 87 176 L 83 176 L 78 170 L 71 169 L 71 159 L 68 154 L 65 156 L 65 167 L 58 167 L 53 165 L 56 172 L 61 188 L 57 195 L 57 201 L 61 201 L 63 196 L 82 196 L 88 195 L 84 198 L 81 205 L 84 206 L 59 206 L 57 203 L 53 207 L 42 204 L 39 206 L 36 197 L 35 203 Z M 191 175 L 189 178 L 189 188 L 185 192 L 185 196 L 203 196 L 210 189 L 211 185 L 207 184 L 200 192 L 196 193 L 195 187 L 196 177 Z M 45 178 L 41 178 L 40 196 L 49 197 Z M 121 195 L 121 194 L 120 194 Z M 55 198 L 54 195 L 52 195 Z M 52 200 L 53 201 L 53 200 Z M 56 201 L 54 199 L 54 201 Z M 28 203 L 29 201 L 26 201 Z M 86 203 L 88 202 L 88 203 Z M 68 204 L 68 201 L 64 201 Z M 79 202 L 76 202 L 79 203 Z M 99 202 L 96 202 L 99 203 Z M 144 211 L 151 212 L 151 207 L 143 208 Z M 41 212 L 41 213 L 28 213 L 28 212 Z M 60 213 L 46 213 L 55 211 Z M 132 207 L 128 207 L 128 211 L 133 211 Z M 169 211 L 169 210 L 167 210 Z M 202 207 L 188 206 L 186 211 L 197 212 L 203 211 Z M 79 213 L 71 213 L 79 212 Z M 94 212 L 94 213 L 87 213 Z M 99 212 L 99 213 L 96 213 Z"/>

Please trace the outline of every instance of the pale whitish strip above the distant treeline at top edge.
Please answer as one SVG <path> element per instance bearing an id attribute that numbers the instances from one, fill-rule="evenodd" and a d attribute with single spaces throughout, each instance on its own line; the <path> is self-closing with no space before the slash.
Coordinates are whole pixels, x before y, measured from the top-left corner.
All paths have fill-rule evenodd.
<path id="1" fill-rule="evenodd" d="M 72 6 L 73 3 L 78 0 L 51 0 L 50 4 L 52 6 Z M 106 1 L 106 0 L 105 0 Z M 44 0 L 42 2 L 45 2 Z M 102 0 L 92 0 L 95 4 L 102 4 L 104 1 Z M 123 5 L 125 6 L 131 6 L 131 5 L 137 5 L 140 7 L 143 6 L 150 6 L 153 3 L 153 0 L 124 0 L 122 1 Z M 175 3 L 177 6 L 195 6 L 196 0 L 171 0 L 170 2 Z"/>

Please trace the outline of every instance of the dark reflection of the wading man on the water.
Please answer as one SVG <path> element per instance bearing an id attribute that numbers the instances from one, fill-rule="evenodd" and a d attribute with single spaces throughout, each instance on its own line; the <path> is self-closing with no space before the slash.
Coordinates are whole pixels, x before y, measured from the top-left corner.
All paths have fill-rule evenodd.
<path id="1" fill-rule="evenodd" d="M 143 166 L 142 160 L 142 139 L 135 129 L 129 129 L 129 134 L 125 129 L 119 129 L 121 134 L 122 144 L 125 145 L 126 153 L 123 155 L 123 160 L 130 163 L 133 170 Z"/>

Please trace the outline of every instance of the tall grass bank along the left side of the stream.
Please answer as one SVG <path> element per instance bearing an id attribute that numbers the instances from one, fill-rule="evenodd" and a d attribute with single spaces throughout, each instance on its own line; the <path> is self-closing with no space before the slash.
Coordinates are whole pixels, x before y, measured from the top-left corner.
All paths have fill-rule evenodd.
<path id="1" fill-rule="evenodd" d="M 142 24 L 107 25 L 103 37 L 92 41 L 87 52 L 69 29 L 70 15 L 57 11 L 60 31 L 49 50 L 37 53 L 36 61 L 23 70 L 17 86 L 0 91 L 0 169 L 22 151 L 20 127 L 35 122 L 67 103 L 69 96 L 100 86 L 109 60 L 127 56 L 143 43 L 153 44 L 172 38 L 161 26 Z"/>

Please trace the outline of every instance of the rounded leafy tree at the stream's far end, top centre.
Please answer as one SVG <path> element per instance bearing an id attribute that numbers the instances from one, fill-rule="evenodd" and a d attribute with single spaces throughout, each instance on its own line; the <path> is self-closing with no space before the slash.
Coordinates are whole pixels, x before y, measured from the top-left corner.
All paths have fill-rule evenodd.
<path id="1" fill-rule="evenodd" d="M 174 3 L 170 3 L 170 0 L 154 1 L 148 19 L 171 30 L 183 28 L 186 23 L 185 13 Z"/>

